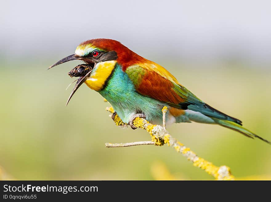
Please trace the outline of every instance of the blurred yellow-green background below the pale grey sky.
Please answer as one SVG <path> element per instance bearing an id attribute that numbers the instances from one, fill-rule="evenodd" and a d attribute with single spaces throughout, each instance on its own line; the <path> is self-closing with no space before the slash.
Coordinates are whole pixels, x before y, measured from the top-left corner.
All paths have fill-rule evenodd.
<path id="1" fill-rule="evenodd" d="M 73 80 L 67 72 L 76 62 L 47 71 L 53 62 L 11 63 L 1 68 L 0 161 L 16 179 L 150 180 L 156 161 L 184 179 L 212 179 L 165 145 L 105 148 L 105 142 L 148 141 L 150 136 L 141 129 L 116 127 L 105 111 L 109 104 L 86 85 L 65 107 L 72 87 L 65 88 Z M 182 65 L 181 73 L 173 65 L 168 69 L 208 104 L 271 139 L 269 70 L 234 65 L 207 70 Z M 175 124 L 168 130 L 199 156 L 228 165 L 236 177 L 271 175 L 270 145 L 260 140 L 199 123 Z"/>

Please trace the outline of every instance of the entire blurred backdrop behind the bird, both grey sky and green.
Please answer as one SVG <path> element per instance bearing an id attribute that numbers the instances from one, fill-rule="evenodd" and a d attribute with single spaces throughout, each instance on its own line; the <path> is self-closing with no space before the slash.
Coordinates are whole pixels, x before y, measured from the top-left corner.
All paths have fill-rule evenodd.
<path id="1" fill-rule="evenodd" d="M 106 142 L 149 141 L 150 136 L 141 129 L 116 127 L 105 111 L 109 103 L 86 85 L 65 107 L 73 88 L 65 91 L 73 81 L 67 73 L 80 62 L 47 68 L 90 38 L 123 42 L 167 68 L 212 107 L 240 119 L 246 128 L 271 140 L 271 43 L 270 37 L 265 37 L 271 32 L 270 25 L 260 26 L 267 22 L 267 16 L 255 15 L 257 20 L 253 20 L 250 10 L 242 10 L 245 13 L 241 15 L 235 9 L 231 10 L 234 18 L 228 18 L 229 8 L 220 12 L 213 3 L 207 6 L 209 15 L 194 15 L 188 11 L 195 8 L 184 2 L 183 13 L 172 11 L 180 6 L 178 2 L 156 4 L 154 8 L 154 2 L 150 2 L 143 11 L 166 7 L 164 12 L 175 21 L 168 22 L 159 12 L 147 14 L 150 18 L 120 18 L 123 14 L 112 15 L 112 5 L 107 2 L 104 9 L 108 12 L 99 15 L 96 22 L 93 16 L 100 14 L 101 5 L 81 3 L 94 9 L 83 11 L 75 5 L 63 7 L 51 1 L 46 5 L 34 1 L 21 6 L 19 2 L 4 3 L 1 25 L 5 29 L 0 33 L 0 166 L 12 179 L 213 179 L 166 145 L 105 148 Z M 133 11 L 141 8 L 138 3 Z M 234 5 L 243 9 L 242 4 Z M 118 1 L 113 7 L 118 6 L 127 5 Z M 255 5 L 248 8 L 256 9 Z M 200 157 L 217 166 L 229 166 L 237 179 L 271 178 L 271 147 L 260 140 L 199 123 L 174 124 L 168 126 L 168 131 Z"/>

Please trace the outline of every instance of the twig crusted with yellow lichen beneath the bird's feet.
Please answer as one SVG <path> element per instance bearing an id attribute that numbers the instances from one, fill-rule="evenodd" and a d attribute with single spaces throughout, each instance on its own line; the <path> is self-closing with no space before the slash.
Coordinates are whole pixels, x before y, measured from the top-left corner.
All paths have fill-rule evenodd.
<path id="1" fill-rule="evenodd" d="M 107 111 L 114 113 L 114 109 L 112 107 L 107 108 Z M 164 114 L 166 111 L 167 107 L 163 107 L 163 119 L 165 119 Z M 118 115 L 115 116 L 114 122 L 116 125 L 127 125 L 119 118 Z M 153 125 L 144 118 L 136 117 L 133 121 L 133 124 L 138 128 L 147 130 L 152 137 L 152 142 L 154 142 L 154 145 L 162 146 L 167 144 L 168 146 L 173 147 L 177 152 L 181 153 L 189 161 L 192 161 L 194 166 L 203 169 L 209 175 L 214 176 L 216 180 L 234 180 L 234 176 L 231 174 L 230 168 L 228 166 L 223 165 L 217 167 L 211 162 L 197 156 L 196 153 L 190 150 L 190 148 L 185 147 L 182 143 L 173 138 L 168 133 L 168 131 L 166 131 L 164 123 L 164 127 L 162 127 L 160 125 Z"/>

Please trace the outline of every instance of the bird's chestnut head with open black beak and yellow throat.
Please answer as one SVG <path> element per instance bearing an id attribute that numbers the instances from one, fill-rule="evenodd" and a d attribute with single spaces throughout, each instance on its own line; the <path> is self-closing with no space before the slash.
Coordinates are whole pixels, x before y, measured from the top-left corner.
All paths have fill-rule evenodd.
<path id="1" fill-rule="evenodd" d="M 71 60 L 82 60 L 89 66 L 92 66 L 94 69 L 92 68 L 93 71 L 89 71 L 86 75 L 81 76 L 78 79 L 74 90 L 68 99 L 68 102 L 75 91 L 84 82 L 90 88 L 96 91 L 100 90 L 103 87 L 106 79 L 109 77 L 112 68 L 115 67 L 116 62 L 118 62 L 122 66 L 123 71 L 125 71 L 129 65 L 132 65 L 138 61 L 144 61 L 146 59 L 137 55 L 118 41 L 112 39 L 91 39 L 82 42 L 79 46 L 77 46 L 75 54 L 64 57 L 55 64 L 51 65 L 48 69 Z M 110 66 L 110 68 L 101 70 L 101 68 L 104 68 L 105 66 L 99 65 L 102 63 L 109 64 L 108 66 Z M 98 69 L 100 70 L 97 71 Z"/>

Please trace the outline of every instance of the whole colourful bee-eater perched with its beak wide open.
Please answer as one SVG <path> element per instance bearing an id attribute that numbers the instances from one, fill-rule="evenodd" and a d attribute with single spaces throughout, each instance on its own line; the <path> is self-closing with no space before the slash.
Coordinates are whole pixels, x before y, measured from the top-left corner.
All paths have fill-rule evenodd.
<path id="1" fill-rule="evenodd" d="M 130 123 L 132 128 L 131 118 L 136 116 L 145 117 L 152 123 L 160 122 L 161 109 L 167 106 L 167 124 L 192 121 L 218 124 L 271 144 L 242 127 L 240 120 L 201 101 L 164 67 L 141 57 L 118 41 L 92 39 L 83 42 L 77 46 L 75 54 L 49 69 L 71 60 L 82 60 L 90 67 L 86 68 L 87 74 L 79 78 L 73 93 L 84 82 L 100 93 L 123 122 Z"/>

